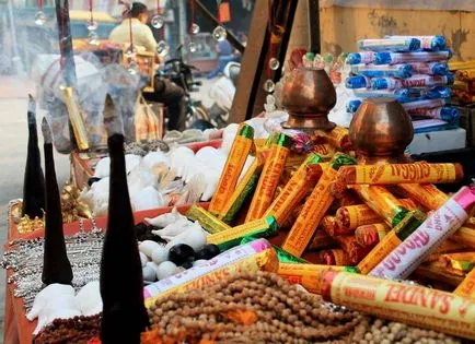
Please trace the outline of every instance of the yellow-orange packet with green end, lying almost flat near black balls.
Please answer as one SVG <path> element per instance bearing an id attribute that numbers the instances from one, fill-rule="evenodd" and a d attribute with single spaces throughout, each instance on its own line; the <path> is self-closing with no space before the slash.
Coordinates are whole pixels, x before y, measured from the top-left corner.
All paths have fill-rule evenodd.
<path id="1" fill-rule="evenodd" d="M 254 220 L 207 237 L 208 244 L 218 245 L 222 250 L 240 245 L 243 237 L 269 238 L 277 234 L 279 226 L 274 216 Z"/>

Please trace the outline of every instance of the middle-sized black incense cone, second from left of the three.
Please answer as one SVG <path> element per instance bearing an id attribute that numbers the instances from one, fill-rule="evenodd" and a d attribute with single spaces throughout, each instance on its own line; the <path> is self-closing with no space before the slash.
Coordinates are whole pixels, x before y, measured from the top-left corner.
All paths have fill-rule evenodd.
<path id="1" fill-rule="evenodd" d="M 56 180 L 51 130 L 45 118 L 43 119 L 42 131 L 45 140 L 46 177 L 45 253 L 42 281 L 46 285 L 53 283 L 71 284 L 72 270 L 66 252 L 65 234 L 62 233 L 61 199 Z"/>

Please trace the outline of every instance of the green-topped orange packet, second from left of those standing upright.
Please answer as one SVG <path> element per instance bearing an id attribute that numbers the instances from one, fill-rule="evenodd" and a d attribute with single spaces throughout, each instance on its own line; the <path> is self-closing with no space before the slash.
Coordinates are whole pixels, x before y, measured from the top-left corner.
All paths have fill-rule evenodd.
<path id="1" fill-rule="evenodd" d="M 264 168 L 257 182 L 246 222 L 264 216 L 274 200 L 280 175 L 286 167 L 292 139 L 283 133 L 276 133 L 271 138 L 270 156 L 264 163 Z"/>

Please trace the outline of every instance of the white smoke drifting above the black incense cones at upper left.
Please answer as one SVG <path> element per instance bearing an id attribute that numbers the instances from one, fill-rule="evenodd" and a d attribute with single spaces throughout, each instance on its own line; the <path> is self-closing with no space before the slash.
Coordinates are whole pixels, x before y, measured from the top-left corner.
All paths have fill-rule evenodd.
<path id="1" fill-rule="evenodd" d="M 120 123 L 114 126 L 114 132 L 107 130 L 108 133 L 121 133 L 126 140 L 131 140 L 136 98 L 144 81 L 119 64 L 120 49 L 88 46 L 84 37 L 84 52 L 74 51 L 73 69 L 71 64 L 61 63 L 60 50 L 69 37 L 58 38 L 53 9 L 44 10 L 47 22 L 42 26 L 35 24 L 35 8 L 16 5 L 11 9 L 12 15 L 3 9 L 7 4 L 0 4 L 0 76 L 14 74 L 19 80 L 34 83 L 38 109 L 46 110 L 57 151 L 68 154 L 72 147 L 69 114 L 61 87 L 70 84 L 73 78 L 68 75 L 74 74 L 74 97 L 85 122 L 90 145 L 101 147 L 106 144 L 104 107 L 107 94 L 114 103 L 114 121 Z M 78 29 L 77 22 L 74 27 L 76 36 L 81 29 L 86 33 L 85 20 L 84 27 Z M 102 36 L 106 38 L 107 34 Z"/>

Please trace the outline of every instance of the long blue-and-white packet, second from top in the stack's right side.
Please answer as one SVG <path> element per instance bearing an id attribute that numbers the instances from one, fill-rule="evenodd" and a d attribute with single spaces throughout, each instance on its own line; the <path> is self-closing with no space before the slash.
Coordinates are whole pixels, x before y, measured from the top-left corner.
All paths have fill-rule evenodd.
<path id="1" fill-rule="evenodd" d="M 375 64 L 397 64 L 412 62 L 433 62 L 447 61 L 452 57 L 452 51 L 412 51 L 412 52 L 376 52 L 374 56 Z"/>

